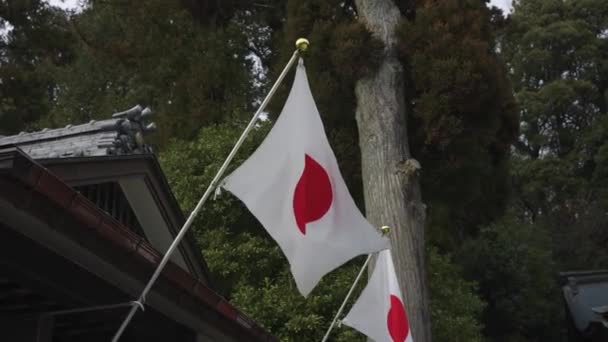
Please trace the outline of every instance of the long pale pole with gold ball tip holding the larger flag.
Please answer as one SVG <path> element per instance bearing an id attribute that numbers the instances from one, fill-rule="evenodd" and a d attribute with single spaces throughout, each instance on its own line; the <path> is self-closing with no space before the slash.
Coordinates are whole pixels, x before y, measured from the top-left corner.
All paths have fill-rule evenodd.
<path id="1" fill-rule="evenodd" d="M 199 211 L 203 207 L 203 204 L 205 204 L 205 202 L 207 201 L 207 199 L 211 195 L 211 192 L 217 187 L 217 184 L 220 181 L 220 179 L 221 179 L 222 175 L 224 174 L 224 172 L 226 171 L 226 169 L 228 168 L 228 165 L 230 164 L 230 162 L 232 161 L 232 159 L 236 155 L 237 151 L 239 150 L 239 148 L 241 147 L 241 145 L 245 141 L 245 138 L 247 138 L 247 135 L 249 134 L 249 132 L 255 126 L 255 123 L 257 122 L 259 116 L 262 114 L 262 112 L 266 108 L 266 105 L 268 104 L 268 102 L 270 102 L 270 99 L 272 98 L 272 96 L 274 95 L 274 93 L 279 88 L 279 85 L 281 84 L 281 82 L 283 81 L 283 79 L 285 78 L 285 76 L 287 75 L 287 72 L 289 72 L 289 69 L 291 69 L 291 67 L 293 66 L 293 64 L 295 63 L 295 61 L 298 59 L 298 56 L 300 55 L 300 53 L 304 52 L 304 51 L 306 51 L 306 49 L 308 49 L 308 45 L 309 45 L 308 40 L 306 40 L 304 38 L 300 38 L 300 39 L 298 39 L 296 41 L 296 50 L 293 52 L 293 55 L 289 59 L 289 62 L 287 62 L 287 65 L 285 66 L 285 68 L 283 68 L 283 71 L 281 72 L 281 74 L 279 75 L 279 77 L 277 78 L 277 80 L 275 81 L 274 85 L 272 86 L 272 88 L 270 88 L 270 91 L 268 92 L 268 95 L 266 95 L 266 98 L 264 98 L 264 101 L 262 101 L 262 104 L 260 105 L 260 107 L 258 108 L 258 110 L 253 115 L 253 118 L 251 118 L 251 121 L 249 121 L 249 124 L 247 125 L 247 127 L 245 128 L 245 130 L 243 131 L 243 133 L 241 134 L 241 136 L 237 140 L 236 144 L 232 148 L 232 151 L 230 151 L 230 153 L 228 154 L 228 157 L 224 161 L 224 164 L 222 164 L 222 166 L 218 170 L 218 172 L 215 175 L 215 177 L 213 177 L 213 180 L 211 181 L 211 183 L 207 187 L 207 190 L 205 190 L 205 193 L 203 194 L 203 197 L 201 197 L 201 199 L 196 204 L 196 207 L 194 208 L 194 210 L 192 210 L 192 212 L 190 213 L 190 216 L 188 216 L 188 219 L 186 220 L 186 222 L 184 223 L 184 225 L 180 229 L 179 233 L 175 237 L 175 240 L 173 240 L 173 242 L 171 243 L 171 246 L 169 246 L 169 249 L 167 249 L 167 252 L 163 256 L 163 259 L 160 261 L 160 263 L 158 264 L 158 266 L 156 267 L 156 270 L 154 271 L 154 274 L 152 274 L 152 277 L 150 278 L 150 280 L 146 284 L 146 287 L 144 287 L 144 289 L 141 292 L 139 298 L 137 299 L 137 301 L 133 302 L 133 306 L 131 307 L 131 310 L 129 311 L 127 317 L 122 322 L 120 328 L 118 329 L 118 331 L 116 332 L 116 334 L 112 338 L 112 342 L 118 342 L 118 340 L 122 336 L 122 333 L 125 331 L 125 329 L 129 325 L 129 323 L 133 319 L 133 316 L 137 312 L 137 309 L 142 309 L 142 311 L 143 311 L 144 304 L 146 302 L 146 295 L 148 294 L 148 292 L 150 292 L 150 289 L 152 288 L 152 286 L 154 285 L 154 283 L 156 282 L 156 280 L 160 276 L 160 274 L 163 271 L 163 269 L 164 269 L 165 265 L 167 264 L 167 262 L 169 262 L 169 259 L 171 258 L 171 255 L 175 252 L 175 250 L 179 246 L 179 243 L 181 242 L 181 240 L 183 239 L 183 237 L 186 235 L 186 232 L 188 232 L 188 229 L 190 229 L 190 226 L 192 225 L 192 222 L 194 221 L 194 218 L 198 215 Z"/>

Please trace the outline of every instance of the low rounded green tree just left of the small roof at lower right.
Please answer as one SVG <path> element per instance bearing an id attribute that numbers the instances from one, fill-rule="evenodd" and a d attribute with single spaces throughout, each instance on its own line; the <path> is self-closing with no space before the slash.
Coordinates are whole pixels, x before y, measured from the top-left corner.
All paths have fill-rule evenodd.
<path id="1" fill-rule="evenodd" d="M 560 293 L 546 230 L 512 215 L 483 228 L 459 260 L 487 307 L 486 334 L 495 341 L 555 341 L 561 335 Z"/>

